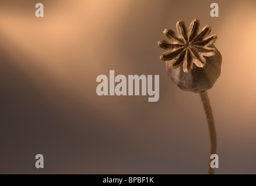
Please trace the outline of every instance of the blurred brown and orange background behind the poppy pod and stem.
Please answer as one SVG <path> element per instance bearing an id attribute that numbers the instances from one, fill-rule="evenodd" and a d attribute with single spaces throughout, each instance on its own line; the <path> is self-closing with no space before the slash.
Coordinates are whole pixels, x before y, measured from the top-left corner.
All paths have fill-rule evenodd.
<path id="1" fill-rule="evenodd" d="M 199 95 L 169 80 L 157 47 L 164 28 L 197 18 L 218 35 L 223 58 L 208 92 L 216 174 L 256 174 L 255 10 L 253 0 L 0 0 L 0 173 L 206 174 Z M 109 70 L 159 74 L 159 101 L 98 96 L 96 77 Z"/>

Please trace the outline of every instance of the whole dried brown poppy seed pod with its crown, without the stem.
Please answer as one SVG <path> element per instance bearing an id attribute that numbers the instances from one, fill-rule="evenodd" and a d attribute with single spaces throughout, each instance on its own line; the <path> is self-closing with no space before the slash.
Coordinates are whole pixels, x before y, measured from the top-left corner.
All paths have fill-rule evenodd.
<path id="1" fill-rule="evenodd" d="M 187 31 L 185 23 L 176 24 L 177 35 L 173 30 L 164 29 L 170 42 L 161 40 L 159 47 L 167 49 L 160 59 L 166 61 L 169 78 L 181 90 L 202 92 L 213 87 L 220 76 L 222 56 L 213 43 L 217 35 L 208 36 L 211 27 L 205 25 L 199 32 L 199 20 L 191 22 Z"/>

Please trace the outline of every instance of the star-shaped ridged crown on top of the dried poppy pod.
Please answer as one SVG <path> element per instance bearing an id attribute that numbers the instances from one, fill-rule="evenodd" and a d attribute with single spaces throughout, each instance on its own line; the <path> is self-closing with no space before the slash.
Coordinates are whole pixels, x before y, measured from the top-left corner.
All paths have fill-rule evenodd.
<path id="1" fill-rule="evenodd" d="M 171 29 L 164 29 L 163 33 L 170 42 L 162 40 L 158 45 L 169 51 L 162 53 L 160 59 L 171 60 L 169 66 L 173 69 L 183 64 L 185 72 L 190 72 L 194 64 L 204 67 L 206 65 L 204 56 L 214 56 L 217 52 L 215 48 L 208 47 L 217 40 L 217 35 L 206 37 L 211 32 L 209 25 L 205 25 L 198 33 L 199 20 L 197 19 L 191 22 L 188 34 L 183 20 L 178 21 L 176 27 L 178 35 Z"/>

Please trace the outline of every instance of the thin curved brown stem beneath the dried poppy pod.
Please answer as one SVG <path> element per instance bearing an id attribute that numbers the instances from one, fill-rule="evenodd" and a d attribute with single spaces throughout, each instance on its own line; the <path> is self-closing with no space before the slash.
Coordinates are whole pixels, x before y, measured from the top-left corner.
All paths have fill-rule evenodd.
<path id="1" fill-rule="evenodd" d="M 211 151 L 210 151 L 210 157 L 211 157 L 211 155 L 216 154 L 216 149 L 217 149 L 216 131 L 215 131 L 215 124 L 214 124 L 213 115 L 212 115 L 212 108 L 210 105 L 208 92 L 203 91 L 203 92 L 200 92 L 199 95 L 201 96 L 201 100 L 205 109 L 206 118 L 208 121 L 208 127 L 209 127 L 210 139 L 211 139 Z M 214 169 L 211 168 L 210 157 L 209 157 L 209 164 L 208 164 L 208 174 L 214 174 Z"/>

